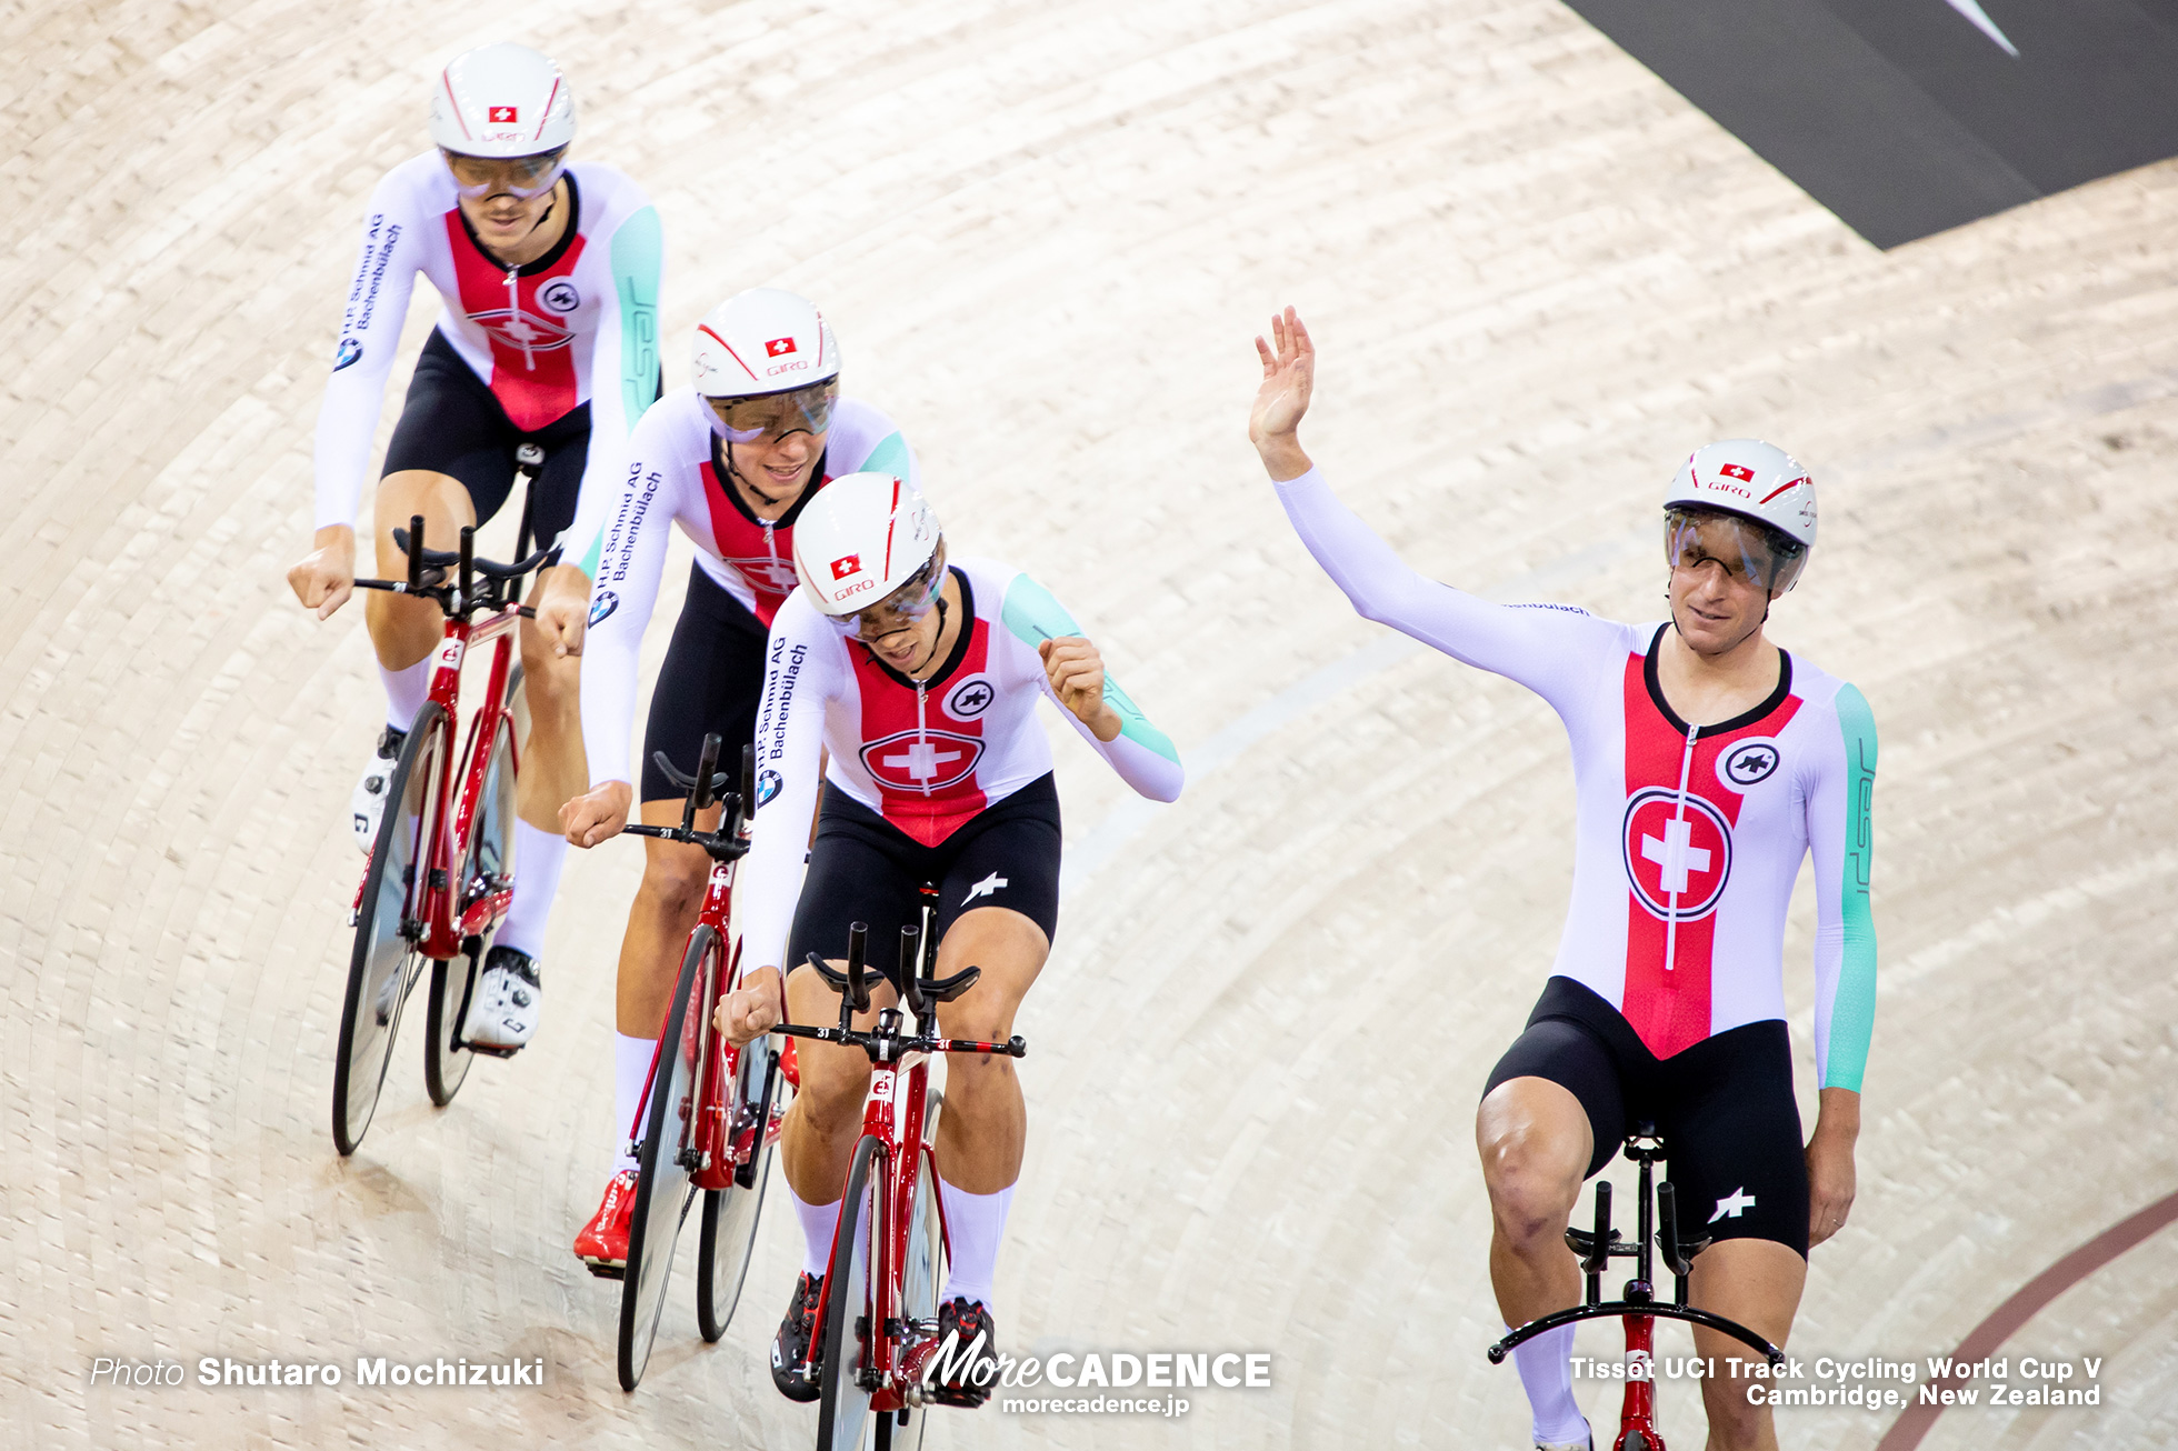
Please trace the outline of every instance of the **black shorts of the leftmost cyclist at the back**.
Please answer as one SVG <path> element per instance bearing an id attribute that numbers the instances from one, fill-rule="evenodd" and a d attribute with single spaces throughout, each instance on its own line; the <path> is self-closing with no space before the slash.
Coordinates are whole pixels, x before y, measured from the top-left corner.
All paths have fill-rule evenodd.
<path id="1" fill-rule="evenodd" d="M 527 503 L 529 547 L 542 549 L 575 523 L 582 468 L 590 458 L 590 405 L 579 403 L 573 412 L 525 434 L 507 418 L 490 386 L 433 327 L 416 359 L 416 375 L 409 377 L 401 423 L 394 425 L 394 440 L 386 447 L 386 468 L 379 477 L 405 468 L 453 475 L 468 490 L 481 525 L 514 492 L 514 466 L 521 462 L 516 449 L 525 442 L 544 451 Z"/>

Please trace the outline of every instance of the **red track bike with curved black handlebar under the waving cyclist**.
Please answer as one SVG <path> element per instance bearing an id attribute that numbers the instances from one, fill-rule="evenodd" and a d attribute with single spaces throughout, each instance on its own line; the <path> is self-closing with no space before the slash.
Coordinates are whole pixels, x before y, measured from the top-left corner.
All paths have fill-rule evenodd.
<path id="1" fill-rule="evenodd" d="M 1705 1325 L 1714 1331 L 1723 1331 L 1760 1351 L 1771 1366 L 1784 1366 L 1784 1351 L 1736 1320 L 1710 1314 L 1708 1309 L 1692 1309 L 1686 1303 L 1686 1277 L 1694 1268 L 1694 1255 L 1710 1248 L 1710 1242 L 1688 1242 L 1679 1237 L 1677 1190 L 1673 1190 L 1668 1179 L 1664 1183 L 1653 1183 L 1655 1170 L 1651 1166 L 1657 1159 L 1668 1157 L 1664 1153 L 1664 1139 L 1655 1135 L 1653 1124 L 1638 1124 L 1634 1133 L 1627 1135 L 1625 1155 L 1640 1166 L 1640 1203 L 1636 1205 L 1638 1237 L 1629 1244 L 1612 1235 L 1612 1185 L 1607 1179 L 1599 1181 L 1594 1229 L 1566 1231 L 1566 1244 L 1581 1257 L 1581 1272 L 1588 1277 L 1588 1294 L 1583 1296 L 1583 1303 L 1573 1309 L 1559 1309 L 1538 1320 L 1529 1320 L 1520 1329 L 1512 1331 L 1490 1346 L 1490 1364 L 1505 1364 L 1505 1357 L 1516 1344 L 1557 1329 L 1559 1325 L 1618 1316 L 1625 1320 L 1627 1331 L 1627 1392 L 1618 1410 L 1618 1438 L 1607 1444 L 1612 1451 L 1664 1451 L 1664 1438 L 1657 1436 L 1655 1429 L 1653 1375 L 1657 1320 L 1686 1320 L 1690 1325 Z M 1664 1264 L 1671 1268 L 1671 1301 L 1655 1298 L 1651 1237 L 1655 1240 L 1653 1248 L 1664 1251 Z M 1605 1301 L 1603 1272 L 1610 1268 L 1612 1259 L 1627 1255 L 1634 1257 L 1634 1279 L 1627 1281 L 1620 1298 Z"/>

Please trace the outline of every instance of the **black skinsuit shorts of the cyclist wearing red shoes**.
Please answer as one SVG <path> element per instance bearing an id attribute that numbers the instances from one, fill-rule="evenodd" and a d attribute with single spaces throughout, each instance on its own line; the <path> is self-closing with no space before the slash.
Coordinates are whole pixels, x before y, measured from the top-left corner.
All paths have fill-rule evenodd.
<path id="1" fill-rule="evenodd" d="M 658 769 L 656 752 L 695 776 L 703 736 L 717 730 L 719 769 L 741 780 L 741 747 L 756 739 L 756 706 L 764 697 L 764 625 L 725 588 L 688 566 L 688 599 L 682 603 L 673 643 L 651 688 L 651 719 L 643 730 L 643 800 L 688 795 Z"/>

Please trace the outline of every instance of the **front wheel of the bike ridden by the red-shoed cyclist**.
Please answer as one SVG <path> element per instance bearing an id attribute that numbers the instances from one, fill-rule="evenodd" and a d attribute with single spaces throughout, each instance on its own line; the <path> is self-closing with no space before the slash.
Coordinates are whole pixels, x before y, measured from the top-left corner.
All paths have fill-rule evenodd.
<path id="1" fill-rule="evenodd" d="M 643 1381 L 658 1340 L 658 1316 L 666 1303 L 666 1279 L 673 1272 L 673 1246 L 695 1187 L 682 1148 L 688 1146 L 688 1096 L 695 1092 L 695 1054 L 701 1041 L 701 1013 L 710 1002 L 703 991 L 725 965 L 725 943 L 710 926 L 688 935 L 673 1007 L 666 1009 L 664 1048 L 651 1096 L 643 1107 L 643 1148 L 636 1153 L 636 1216 L 627 1229 L 627 1270 L 621 1277 L 621 1390 Z"/>

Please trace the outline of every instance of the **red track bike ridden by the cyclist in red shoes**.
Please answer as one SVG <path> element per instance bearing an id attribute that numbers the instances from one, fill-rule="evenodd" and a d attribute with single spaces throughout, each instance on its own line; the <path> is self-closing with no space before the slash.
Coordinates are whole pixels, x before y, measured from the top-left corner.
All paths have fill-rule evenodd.
<path id="1" fill-rule="evenodd" d="M 688 932 L 651 1076 L 629 1126 L 636 1144 L 636 1209 L 627 1233 L 627 1268 L 592 1266 L 597 1275 L 621 1279 L 621 1390 L 634 1390 L 651 1359 L 673 1272 L 673 1246 L 697 1192 L 703 1194 L 703 1211 L 695 1318 L 703 1340 L 717 1342 L 725 1333 L 756 1248 L 764 1172 L 786 1111 L 773 1041 L 760 1037 L 745 1048 L 730 1048 L 712 1026 L 719 1000 L 741 985 L 741 946 L 730 937 L 727 919 L 734 869 L 749 850 L 745 804 L 756 800 L 754 752 L 743 747 L 741 791 L 723 797 L 717 734 L 703 736 L 695 776 L 684 776 L 664 752 L 653 754 L 653 760 L 675 787 L 688 791 L 682 824 L 636 824 L 627 832 L 703 848 L 710 854 L 710 882 Z M 719 828 L 699 830 L 697 815 L 721 802 Z"/>

